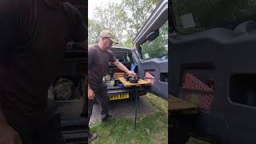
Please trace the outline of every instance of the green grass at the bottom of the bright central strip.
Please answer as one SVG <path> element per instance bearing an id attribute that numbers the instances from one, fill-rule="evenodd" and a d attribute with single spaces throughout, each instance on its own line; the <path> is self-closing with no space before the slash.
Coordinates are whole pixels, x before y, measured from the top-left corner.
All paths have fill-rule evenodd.
<path id="1" fill-rule="evenodd" d="M 138 119 L 136 130 L 133 119 L 102 122 L 90 128 L 98 134 L 98 138 L 91 143 L 168 143 L 167 102 L 154 94 L 147 94 L 146 99 L 155 109 L 152 114 Z"/>

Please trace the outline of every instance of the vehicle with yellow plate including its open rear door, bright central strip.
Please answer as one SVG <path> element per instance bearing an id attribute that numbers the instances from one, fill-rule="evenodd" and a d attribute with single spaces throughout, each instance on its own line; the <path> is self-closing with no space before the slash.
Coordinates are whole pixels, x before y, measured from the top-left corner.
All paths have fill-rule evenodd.
<path id="1" fill-rule="evenodd" d="M 110 100 L 119 98 L 134 98 L 146 94 L 148 91 L 162 98 L 168 95 L 168 2 L 162 1 L 156 6 L 150 17 L 147 18 L 142 28 L 134 38 L 135 48 L 112 47 L 114 55 L 129 70 L 135 66 L 135 73 L 142 79 L 150 80 L 150 86 L 141 86 L 138 90 L 134 87 L 125 88 L 118 86 L 114 75 L 118 68 L 110 63 L 108 80 L 108 94 Z M 129 95 L 129 96 L 127 96 Z"/>

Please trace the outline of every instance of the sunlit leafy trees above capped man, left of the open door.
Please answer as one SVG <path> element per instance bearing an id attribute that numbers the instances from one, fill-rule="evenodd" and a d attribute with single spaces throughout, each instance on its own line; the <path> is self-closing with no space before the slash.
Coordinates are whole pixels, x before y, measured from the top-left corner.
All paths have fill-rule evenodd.
<path id="1" fill-rule="evenodd" d="M 134 37 L 160 0 L 122 0 L 98 6 L 89 20 L 89 44 L 98 42 L 101 30 L 111 30 L 121 46 L 133 47 Z"/>

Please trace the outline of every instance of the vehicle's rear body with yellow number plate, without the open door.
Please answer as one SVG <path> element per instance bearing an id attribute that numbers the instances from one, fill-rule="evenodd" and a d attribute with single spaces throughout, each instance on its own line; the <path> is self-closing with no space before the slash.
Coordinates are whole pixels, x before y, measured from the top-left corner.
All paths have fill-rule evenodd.
<path id="1" fill-rule="evenodd" d="M 114 53 L 114 56 L 118 59 L 118 61 L 122 62 L 122 64 L 126 66 L 127 69 L 130 70 L 131 66 L 134 66 L 134 72 L 138 73 L 140 70 L 138 68 L 138 55 L 134 52 L 134 50 L 117 46 L 112 47 L 110 50 Z M 110 97 L 110 100 L 134 98 L 135 94 L 142 96 L 146 94 L 148 90 L 150 90 L 150 86 L 144 85 L 136 87 L 123 86 L 116 77 L 117 74 L 121 74 L 123 76 L 122 73 L 124 72 L 119 70 L 116 66 L 114 66 L 114 64 L 110 62 L 108 73 L 104 77 L 107 86 L 107 93 Z"/>

